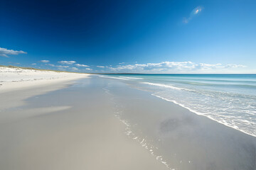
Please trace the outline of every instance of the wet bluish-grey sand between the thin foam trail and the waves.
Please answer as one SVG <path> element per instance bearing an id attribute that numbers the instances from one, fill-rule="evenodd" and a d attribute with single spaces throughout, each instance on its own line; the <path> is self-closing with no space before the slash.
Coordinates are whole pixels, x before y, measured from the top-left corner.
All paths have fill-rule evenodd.
<path id="1" fill-rule="evenodd" d="M 119 107 L 117 117 L 129 128 L 127 135 L 167 167 L 256 168 L 256 138 L 252 135 L 152 96 L 149 91 L 121 85 L 108 90 Z"/>

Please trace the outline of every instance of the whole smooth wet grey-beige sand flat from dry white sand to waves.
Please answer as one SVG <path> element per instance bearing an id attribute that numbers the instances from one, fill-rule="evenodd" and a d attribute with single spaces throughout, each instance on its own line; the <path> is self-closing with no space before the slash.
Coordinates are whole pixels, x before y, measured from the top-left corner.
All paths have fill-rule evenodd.
<path id="1" fill-rule="evenodd" d="M 141 77 L 65 74 L 1 93 L 0 169 L 256 169 L 256 137 L 152 95 Z"/>

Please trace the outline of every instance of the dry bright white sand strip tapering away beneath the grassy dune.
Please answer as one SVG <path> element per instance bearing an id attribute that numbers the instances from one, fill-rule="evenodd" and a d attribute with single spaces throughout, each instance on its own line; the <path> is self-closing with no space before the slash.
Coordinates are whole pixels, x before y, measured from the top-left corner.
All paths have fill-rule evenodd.
<path id="1" fill-rule="evenodd" d="M 89 74 L 0 67 L 0 94 L 19 89 L 62 83 L 88 77 Z"/>

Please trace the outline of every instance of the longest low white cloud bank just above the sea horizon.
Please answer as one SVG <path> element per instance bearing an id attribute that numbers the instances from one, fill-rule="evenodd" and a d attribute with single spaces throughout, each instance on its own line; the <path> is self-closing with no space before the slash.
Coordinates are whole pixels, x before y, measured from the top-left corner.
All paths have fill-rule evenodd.
<path id="1" fill-rule="evenodd" d="M 240 64 L 206 64 L 194 62 L 159 62 L 146 64 L 127 64 L 117 67 L 108 67 L 112 72 L 138 72 L 138 73 L 203 73 L 227 72 L 233 69 L 244 68 Z"/>

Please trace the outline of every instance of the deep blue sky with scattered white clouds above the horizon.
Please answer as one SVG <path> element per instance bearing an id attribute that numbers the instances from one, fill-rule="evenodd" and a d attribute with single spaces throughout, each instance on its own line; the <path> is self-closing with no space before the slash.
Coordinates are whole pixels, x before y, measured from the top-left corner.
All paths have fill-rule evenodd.
<path id="1" fill-rule="evenodd" d="M 0 64 L 256 73 L 255 8 L 255 0 L 2 0 Z"/>

